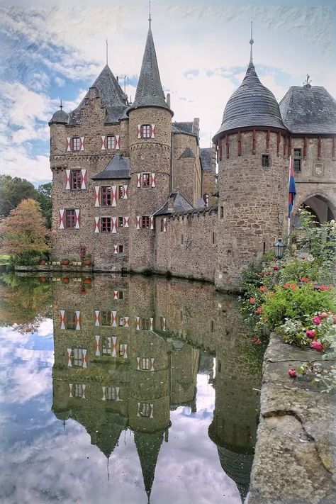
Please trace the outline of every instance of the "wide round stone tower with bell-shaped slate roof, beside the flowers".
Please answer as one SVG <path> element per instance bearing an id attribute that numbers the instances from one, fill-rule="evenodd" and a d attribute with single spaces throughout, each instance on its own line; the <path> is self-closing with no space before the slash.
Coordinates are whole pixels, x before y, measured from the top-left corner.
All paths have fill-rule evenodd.
<path id="1" fill-rule="evenodd" d="M 253 40 L 251 39 L 253 43 Z M 252 62 L 213 138 L 218 149 L 218 266 L 215 284 L 238 286 L 242 269 L 284 233 L 288 132 L 274 94 Z"/>

